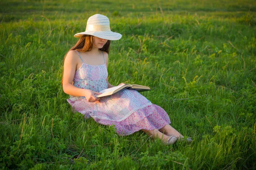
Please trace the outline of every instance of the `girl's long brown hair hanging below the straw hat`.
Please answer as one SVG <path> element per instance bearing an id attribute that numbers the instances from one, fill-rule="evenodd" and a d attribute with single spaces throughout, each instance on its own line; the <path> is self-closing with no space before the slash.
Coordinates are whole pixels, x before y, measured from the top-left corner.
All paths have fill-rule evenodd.
<path id="1" fill-rule="evenodd" d="M 72 51 L 72 50 L 76 50 L 79 52 L 91 51 L 93 49 L 93 39 L 94 39 L 94 36 L 92 35 L 82 35 L 82 37 L 76 42 L 76 45 L 70 48 L 69 51 Z M 102 48 L 100 48 L 100 50 L 109 53 L 110 43 L 111 43 L 111 40 L 108 40 L 108 42 L 105 43 L 105 45 Z M 67 54 L 69 51 L 67 51 Z M 67 54 L 64 57 L 64 61 L 67 57 Z M 63 85 L 63 74 L 64 74 L 64 67 L 62 71 L 61 85 Z"/>

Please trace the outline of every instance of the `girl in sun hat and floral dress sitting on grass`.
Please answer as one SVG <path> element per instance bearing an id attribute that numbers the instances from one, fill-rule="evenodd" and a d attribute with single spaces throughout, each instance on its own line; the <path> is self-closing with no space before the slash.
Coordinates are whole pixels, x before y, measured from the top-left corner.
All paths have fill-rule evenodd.
<path id="1" fill-rule="evenodd" d="M 108 53 L 111 40 L 119 40 L 122 35 L 110 30 L 108 17 L 101 14 L 89 17 L 85 31 L 74 37 L 80 39 L 64 58 L 62 85 L 75 111 L 100 124 L 115 125 L 119 135 L 142 130 L 165 144 L 183 139 L 169 125 L 168 114 L 135 90 L 125 89 L 100 99 L 95 97 L 99 91 L 114 87 L 108 82 Z"/>

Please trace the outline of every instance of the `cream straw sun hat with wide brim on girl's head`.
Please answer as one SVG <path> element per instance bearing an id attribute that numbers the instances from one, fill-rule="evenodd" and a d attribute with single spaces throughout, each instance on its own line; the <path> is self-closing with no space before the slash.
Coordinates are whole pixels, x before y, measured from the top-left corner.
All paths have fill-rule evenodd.
<path id="1" fill-rule="evenodd" d="M 79 32 L 74 37 L 82 37 L 83 34 L 93 35 L 106 40 L 119 40 L 122 35 L 112 32 L 109 26 L 109 19 L 105 15 L 95 14 L 87 20 L 84 32 Z"/>

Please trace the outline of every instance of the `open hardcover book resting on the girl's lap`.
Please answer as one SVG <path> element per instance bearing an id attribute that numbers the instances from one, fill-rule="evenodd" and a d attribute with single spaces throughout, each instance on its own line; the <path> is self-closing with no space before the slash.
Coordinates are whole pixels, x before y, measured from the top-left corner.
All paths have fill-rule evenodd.
<path id="1" fill-rule="evenodd" d="M 134 90 L 137 90 L 139 92 L 151 90 L 149 87 L 144 86 L 144 85 L 124 84 L 124 85 L 118 85 L 118 86 L 113 87 L 113 88 L 107 88 L 105 90 L 102 90 L 102 91 L 99 92 L 99 93 L 102 93 L 102 94 L 95 95 L 95 96 L 97 98 L 100 98 L 100 97 L 103 97 L 103 96 L 110 96 L 110 95 L 115 94 L 116 92 L 121 91 L 122 89 L 125 89 L 125 88 L 134 89 Z"/>

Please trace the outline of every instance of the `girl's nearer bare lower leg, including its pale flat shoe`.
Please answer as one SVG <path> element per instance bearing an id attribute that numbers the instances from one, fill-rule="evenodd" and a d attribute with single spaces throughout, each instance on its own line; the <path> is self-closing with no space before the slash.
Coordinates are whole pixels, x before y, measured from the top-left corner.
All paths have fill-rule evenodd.
<path id="1" fill-rule="evenodd" d="M 153 130 L 142 129 L 142 131 L 154 139 L 157 139 L 157 138 L 161 139 L 163 141 L 163 143 L 165 143 L 165 144 L 173 144 L 177 140 L 177 138 L 175 136 L 170 139 L 170 136 L 163 134 L 162 132 L 160 132 L 157 129 L 153 129 Z"/>

